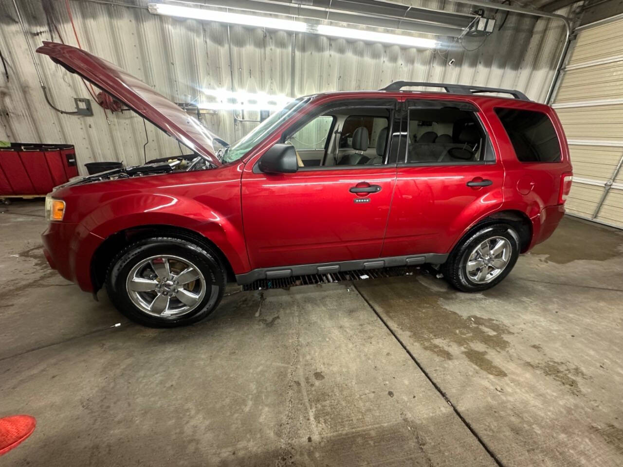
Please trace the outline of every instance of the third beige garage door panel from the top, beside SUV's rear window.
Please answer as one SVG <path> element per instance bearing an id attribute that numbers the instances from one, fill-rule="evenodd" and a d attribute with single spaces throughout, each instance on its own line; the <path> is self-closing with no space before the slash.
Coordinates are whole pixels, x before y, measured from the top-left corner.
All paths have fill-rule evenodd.
<path id="1" fill-rule="evenodd" d="M 623 104 L 557 108 L 556 113 L 571 144 L 574 139 L 623 142 Z"/>

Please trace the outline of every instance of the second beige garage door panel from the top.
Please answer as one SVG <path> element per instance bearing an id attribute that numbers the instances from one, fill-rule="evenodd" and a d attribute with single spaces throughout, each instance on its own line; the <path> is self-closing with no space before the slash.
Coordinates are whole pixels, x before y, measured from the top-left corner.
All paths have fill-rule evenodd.
<path id="1" fill-rule="evenodd" d="M 621 95 L 623 95 L 623 60 L 576 68 L 564 73 L 556 103 L 617 99 Z"/>

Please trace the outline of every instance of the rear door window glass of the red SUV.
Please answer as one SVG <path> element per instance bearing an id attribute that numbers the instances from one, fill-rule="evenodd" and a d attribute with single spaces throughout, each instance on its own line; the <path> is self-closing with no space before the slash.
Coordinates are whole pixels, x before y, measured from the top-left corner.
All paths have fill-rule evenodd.
<path id="1" fill-rule="evenodd" d="M 456 107 L 409 108 L 407 163 L 464 164 L 494 160 L 472 111 Z"/>

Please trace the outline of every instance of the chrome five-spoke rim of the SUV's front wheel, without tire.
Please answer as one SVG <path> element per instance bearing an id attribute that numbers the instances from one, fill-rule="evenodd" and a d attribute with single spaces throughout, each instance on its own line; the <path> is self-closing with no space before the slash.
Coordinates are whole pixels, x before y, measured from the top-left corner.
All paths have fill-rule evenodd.
<path id="1" fill-rule="evenodd" d="M 190 313 L 201 303 L 206 291 L 212 293 L 214 287 L 206 283 L 196 265 L 172 255 L 141 260 L 126 279 L 132 303 L 158 318 L 178 318 Z"/>

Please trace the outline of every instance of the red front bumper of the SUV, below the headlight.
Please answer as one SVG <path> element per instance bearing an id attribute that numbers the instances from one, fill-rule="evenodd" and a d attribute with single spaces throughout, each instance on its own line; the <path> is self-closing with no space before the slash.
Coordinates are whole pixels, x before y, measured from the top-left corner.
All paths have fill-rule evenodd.
<path id="1" fill-rule="evenodd" d="M 93 292 L 91 260 L 104 239 L 81 224 L 50 222 L 41 240 L 50 267 L 65 279 L 77 283 L 82 290 Z"/>

